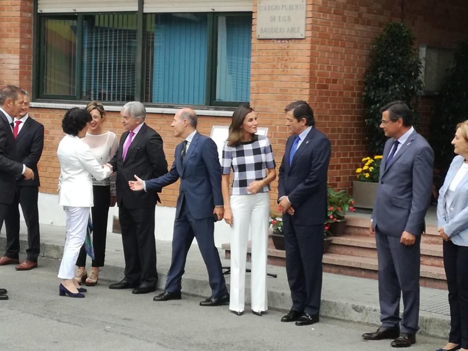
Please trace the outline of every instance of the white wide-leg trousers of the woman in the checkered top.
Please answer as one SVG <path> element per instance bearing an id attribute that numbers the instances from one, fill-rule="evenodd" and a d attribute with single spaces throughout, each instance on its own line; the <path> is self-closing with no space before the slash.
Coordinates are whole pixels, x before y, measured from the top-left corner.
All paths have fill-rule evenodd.
<path id="1" fill-rule="evenodd" d="M 232 195 L 231 291 L 229 309 L 243 311 L 245 303 L 245 262 L 249 228 L 251 233 L 250 304 L 254 311 L 268 309 L 266 261 L 268 250 L 268 193 Z"/>

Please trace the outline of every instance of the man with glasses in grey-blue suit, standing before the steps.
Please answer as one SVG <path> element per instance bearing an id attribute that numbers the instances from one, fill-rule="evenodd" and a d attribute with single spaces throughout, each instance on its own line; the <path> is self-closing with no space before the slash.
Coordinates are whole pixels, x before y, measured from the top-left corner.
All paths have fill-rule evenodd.
<path id="1" fill-rule="evenodd" d="M 412 127 L 412 112 L 404 102 L 391 102 L 381 112 L 380 127 L 389 139 L 369 230 L 377 244 L 382 325 L 362 337 L 394 339 L 393 347 L 409 347 L 418 330 L 420 242 L 431 197 L 434 152 Z"/>

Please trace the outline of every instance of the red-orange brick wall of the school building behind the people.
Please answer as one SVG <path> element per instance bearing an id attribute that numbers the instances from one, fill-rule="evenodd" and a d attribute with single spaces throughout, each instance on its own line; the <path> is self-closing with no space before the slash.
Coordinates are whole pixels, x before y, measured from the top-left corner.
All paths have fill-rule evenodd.
<path id="1" fill-rule="evenodd" d="M 32 0 L 0 3 L 0 85 L 17 84 L 31 89 Z M 259 124 L 269 128 L 277 165 L 288 136 L 283 108 L 293 100 L 309 101 L 317 127 L 332 142 L 329 183 L 351 190 L 354 171 L 366 155 L 361 94 L 363 74 L 373 39 L 389 21 L 403 21 L 416 36 L 416 45 L 453 48 L 468 38 L 468 4 L 465 0 L 307 0 L 305 39 L 256 39 L 256 1 L 253 6 L 251 104 Z M 428 133 L 434 98 L 421 99 L 421 130 Z M 56 158 L 64 110 L 33 108 L 31 115 L 46 127 L 46 146 L 40 161 L 41 192 L 55 193 L 59 174 Z M 172 116 L 149 114 L 147 123 L 164 139 L 171 164 L 178 139 L 170 127 Z M 229 124 L 227 117 L 201 116 L 199 131 L 209 134 L 211 125 Z M 109 112 L 107 127 L 118 135 L 119 114 Z M 276 197 L 273 183 L 271 198 Z M 163 203 L 175 206 L 178 186 L 163 192 Z M 272 201 L 273 203 L 273 201 Z"/>

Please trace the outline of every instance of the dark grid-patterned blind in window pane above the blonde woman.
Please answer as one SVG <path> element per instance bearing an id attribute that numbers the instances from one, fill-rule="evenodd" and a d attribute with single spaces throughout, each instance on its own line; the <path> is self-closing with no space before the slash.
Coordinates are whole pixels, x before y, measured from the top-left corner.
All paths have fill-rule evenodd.
<path id="1" fill-rule="evenodd" d="M 131 101 L 136 84 L 136 15 L 96 15 L 83 23 L 81 98 Z"/>

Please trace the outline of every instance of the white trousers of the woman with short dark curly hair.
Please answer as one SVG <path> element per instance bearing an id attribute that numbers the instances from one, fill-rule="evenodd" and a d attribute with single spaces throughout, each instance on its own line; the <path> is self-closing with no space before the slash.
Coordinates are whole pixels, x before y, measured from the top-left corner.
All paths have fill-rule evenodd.
<path id="1" fill-rule="evenodd" d="M 64 206 L 63 208 L 67 216 L 67 235 L 58 277 L 60 279 L 73 279 L 75 277 L 76 259 L 86 238 L 89 207 Z"/>

